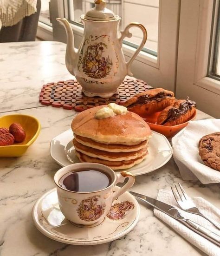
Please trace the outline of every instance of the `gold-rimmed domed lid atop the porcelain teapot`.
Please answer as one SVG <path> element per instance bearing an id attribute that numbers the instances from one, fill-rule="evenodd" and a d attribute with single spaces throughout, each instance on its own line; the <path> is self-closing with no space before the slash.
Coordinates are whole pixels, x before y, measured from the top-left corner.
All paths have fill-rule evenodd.
<path id="1" fill-rule="evenodd" d="M 95 7 L 89 10 L 84 18 L 86 20 L 95 21 L 108 21 L 116 20 L 116 15 L 105 7 L 106 2 L 104 0 L 95 0 Z"/>

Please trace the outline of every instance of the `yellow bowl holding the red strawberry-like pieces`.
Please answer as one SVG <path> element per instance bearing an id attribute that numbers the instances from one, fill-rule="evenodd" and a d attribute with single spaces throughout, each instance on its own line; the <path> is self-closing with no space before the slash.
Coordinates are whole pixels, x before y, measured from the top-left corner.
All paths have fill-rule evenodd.
<path id="1" fill-rule="evenodd" d="M 13 123 L 19 123 L 26 131 L 26 138 L 21 143 L 10 146 L 0 146 L 0 158 L 14 158 L 22 156 L 27 148 L 38 138 L 40 123 L 38 119 L 28 115 L 7 115 L 0 117 L 0 127 L 9 129 Z"/>

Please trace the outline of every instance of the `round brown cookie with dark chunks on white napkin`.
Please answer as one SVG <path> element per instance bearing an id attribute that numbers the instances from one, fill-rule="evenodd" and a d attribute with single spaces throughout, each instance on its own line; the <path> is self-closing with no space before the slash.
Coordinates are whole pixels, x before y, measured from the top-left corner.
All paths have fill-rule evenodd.
<path id="1" fill-rule="evenodd" d="M 220 132 L 207 134 L 200 139 L 199 154 L 204 164 L 220 171 Z"/>

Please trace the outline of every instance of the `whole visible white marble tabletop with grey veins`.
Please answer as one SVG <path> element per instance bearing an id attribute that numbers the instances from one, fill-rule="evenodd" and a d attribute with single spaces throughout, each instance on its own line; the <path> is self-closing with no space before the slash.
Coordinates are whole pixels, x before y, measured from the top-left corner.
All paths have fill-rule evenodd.
<path id="1" fill-rule="evenodd" d="M 1 44 L 0 116 L 30 114 L 42 129 L 34 144 L 20 158 L 0 159 L 0 255 L 1 256 L 178 256 L 205 255 L 141 205 L 134 230 L 101 245 L 74 246 L 53 241 L 41 234 L 32 221 L 36 200 L 54 187 L 53 176 L 60 166 L 50 157 L 52 138 L 70 128 L 74 111 L 39 104 L 42 84 L 71 79 L 65 70 L 65 45 L 58 42 Z M 46 46 L 46 47 L 45 47 Z M 13 58 L 14 57 L 14 58 Z M 210 118 L 198 111 L 197 119 Z M 157 197 L 158 190 L 181 182 L 190 196 L 201 196 L 220 208 L 220 185 L 182 181 L 174 160 L 149 174 L 136 177 L 133 190 Z"/>

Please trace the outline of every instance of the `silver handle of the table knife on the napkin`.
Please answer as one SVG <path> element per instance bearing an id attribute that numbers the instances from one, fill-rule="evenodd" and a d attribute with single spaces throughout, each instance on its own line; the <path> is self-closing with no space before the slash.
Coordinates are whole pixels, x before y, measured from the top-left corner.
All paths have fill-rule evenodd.
<path id="1" fill-rule="evenodd" d="M 205 228 L 205 227 L 201 226 L 200 224 L 198 224 L 192 220 L 189 220 L 189 219 L 184 219 L 184 220 L 182 220 L 182 222 L 186 223 L 186 225 L 191 230 L 194 230 L 199 235 L 207 238 L 209 241 L 220 246 L 220 236 L 217 235 L 216 233 L 212 232 L 211 230 L 208 230 L 207 228 Z"/>

